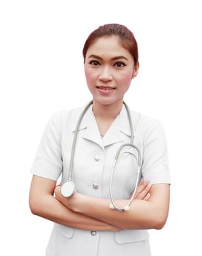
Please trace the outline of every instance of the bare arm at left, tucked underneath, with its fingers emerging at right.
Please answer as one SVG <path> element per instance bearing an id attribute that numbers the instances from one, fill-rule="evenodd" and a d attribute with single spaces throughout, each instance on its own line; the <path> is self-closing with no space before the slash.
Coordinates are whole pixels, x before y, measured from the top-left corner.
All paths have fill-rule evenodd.
<path id="1" fill-rule="evenodd" d="M 33 214 L 61 225 L 79 228 L 82 230 L 122 230 L 120 227 L 116 227 L 115 225 L 110 225 L 109 223 L 99 219 L 72 211 L 66 205 L 69 201 L 66 200 L 65 197 L 61 196 L 60 187 L 55 187 L 55 185 L 56 181 L 39 176 L 33 176 L 29 195 L 29 205 Z M 136 198 L 139 200 L 147 200 L 150 197 L 150 189 L 151 185 L 149 185 L 149 181 L 142 180 L 136 191 Z M 53 195 L 54 190 L 55 196 Z M 75 195 L 79 194 L 75 193 Z M 71 198 L 75 198 L 75 195 Z"/>

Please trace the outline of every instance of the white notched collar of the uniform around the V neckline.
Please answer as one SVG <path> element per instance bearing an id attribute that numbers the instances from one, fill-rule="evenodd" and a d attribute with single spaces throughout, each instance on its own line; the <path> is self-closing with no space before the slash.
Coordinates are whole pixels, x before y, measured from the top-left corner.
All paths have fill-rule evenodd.
<path id="1" fill-rule="evenodd" d="M 74 116 L 73 121 L 71 121 L 71 131 L 75 132 L 77 121 L 82 112 L 82 109 L 74 110 L 72 116 Z M 131 114 L 132 122 L 134 124 L 133 115 Z M 128 138 L 128 142 L 131 138 L 131 129 L 128 122 L 128 115 L 123 105 L 120 114 L 115 118 L 109 129 L 107 130 L 104 138 L 101 138 L 99 134 L 98 124 L 96 118 L 93 114 L 92 105 L 88 108 L 85 116 L 82 118 L 82 122 L 79 126 L 79 132 L 82 138 L 91 140 L 97 143 L 101 148 L 109 146 L 114 143 L 124 141 Z M 78 133 L 79 134 L 79 133 Z M 135 134 L 134 134 L 135 136 Z"/>

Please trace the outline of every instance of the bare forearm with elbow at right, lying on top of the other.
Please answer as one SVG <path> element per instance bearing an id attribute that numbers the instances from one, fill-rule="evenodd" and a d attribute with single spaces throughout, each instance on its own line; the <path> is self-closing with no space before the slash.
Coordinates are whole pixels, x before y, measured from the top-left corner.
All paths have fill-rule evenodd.
<path id="1" fill-rule="evenodd" d="M 155 186 L 149 200 L 133 200 L 129 211 L 109 208 L 108 199 L 76 194 L 70 205 L 73 211 L 99 219 L 121 229 L 160 229 L 168 216 L 168 186 Z M 128 200 L 115 200 L 117 206 L 124 206 Z"/>

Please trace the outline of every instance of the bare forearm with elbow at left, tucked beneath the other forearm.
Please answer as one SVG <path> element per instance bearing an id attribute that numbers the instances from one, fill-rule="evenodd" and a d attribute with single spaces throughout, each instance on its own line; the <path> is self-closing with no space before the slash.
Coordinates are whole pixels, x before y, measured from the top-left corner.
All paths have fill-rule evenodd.
<path id="1" fill-rule="evenodd" d="M 53 195 L 43 195 L 40 200 L 30 203 L 33 214 L 49 219 L 61 225 L 82 230 L 119 231 L 109 223 L 88 217 L 63 206 Z"/>

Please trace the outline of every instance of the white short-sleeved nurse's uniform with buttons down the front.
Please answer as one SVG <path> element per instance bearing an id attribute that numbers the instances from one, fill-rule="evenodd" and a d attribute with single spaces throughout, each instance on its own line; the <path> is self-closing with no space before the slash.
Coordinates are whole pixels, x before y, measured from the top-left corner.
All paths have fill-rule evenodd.
<path id="1" fill-rule="evenodd" d="M 44 130 L 31 173 L 55 181 L 69 173 L 71 145 L 82 108 L 54 113 Z M 170 183 L 166 138 L 159 121 L 131 111 L 134 144 L 141 151 L 141 176 L 152 184 Z M 117 148 L 130 141 L 131 130 L 125 107 L 109 127 L 104 138 L 98 131 L 92 106 L 79 127 L 74 157 L 73 180 L 79 193 L 109 198 L 109 179 Z M 133 151 L 128 148 L 127 151 Z M 133 151 L 134 152 L 134 151 Z M 136 152 L 134 152 L 136 154 Z M 122 152 L 114 173 L 116 199 L 128 199 L 136 183 L 136 160 Z M 147 230 L 96 232 L 54 224 L 47 256 L 141 255 L 149 256 Z"/>

